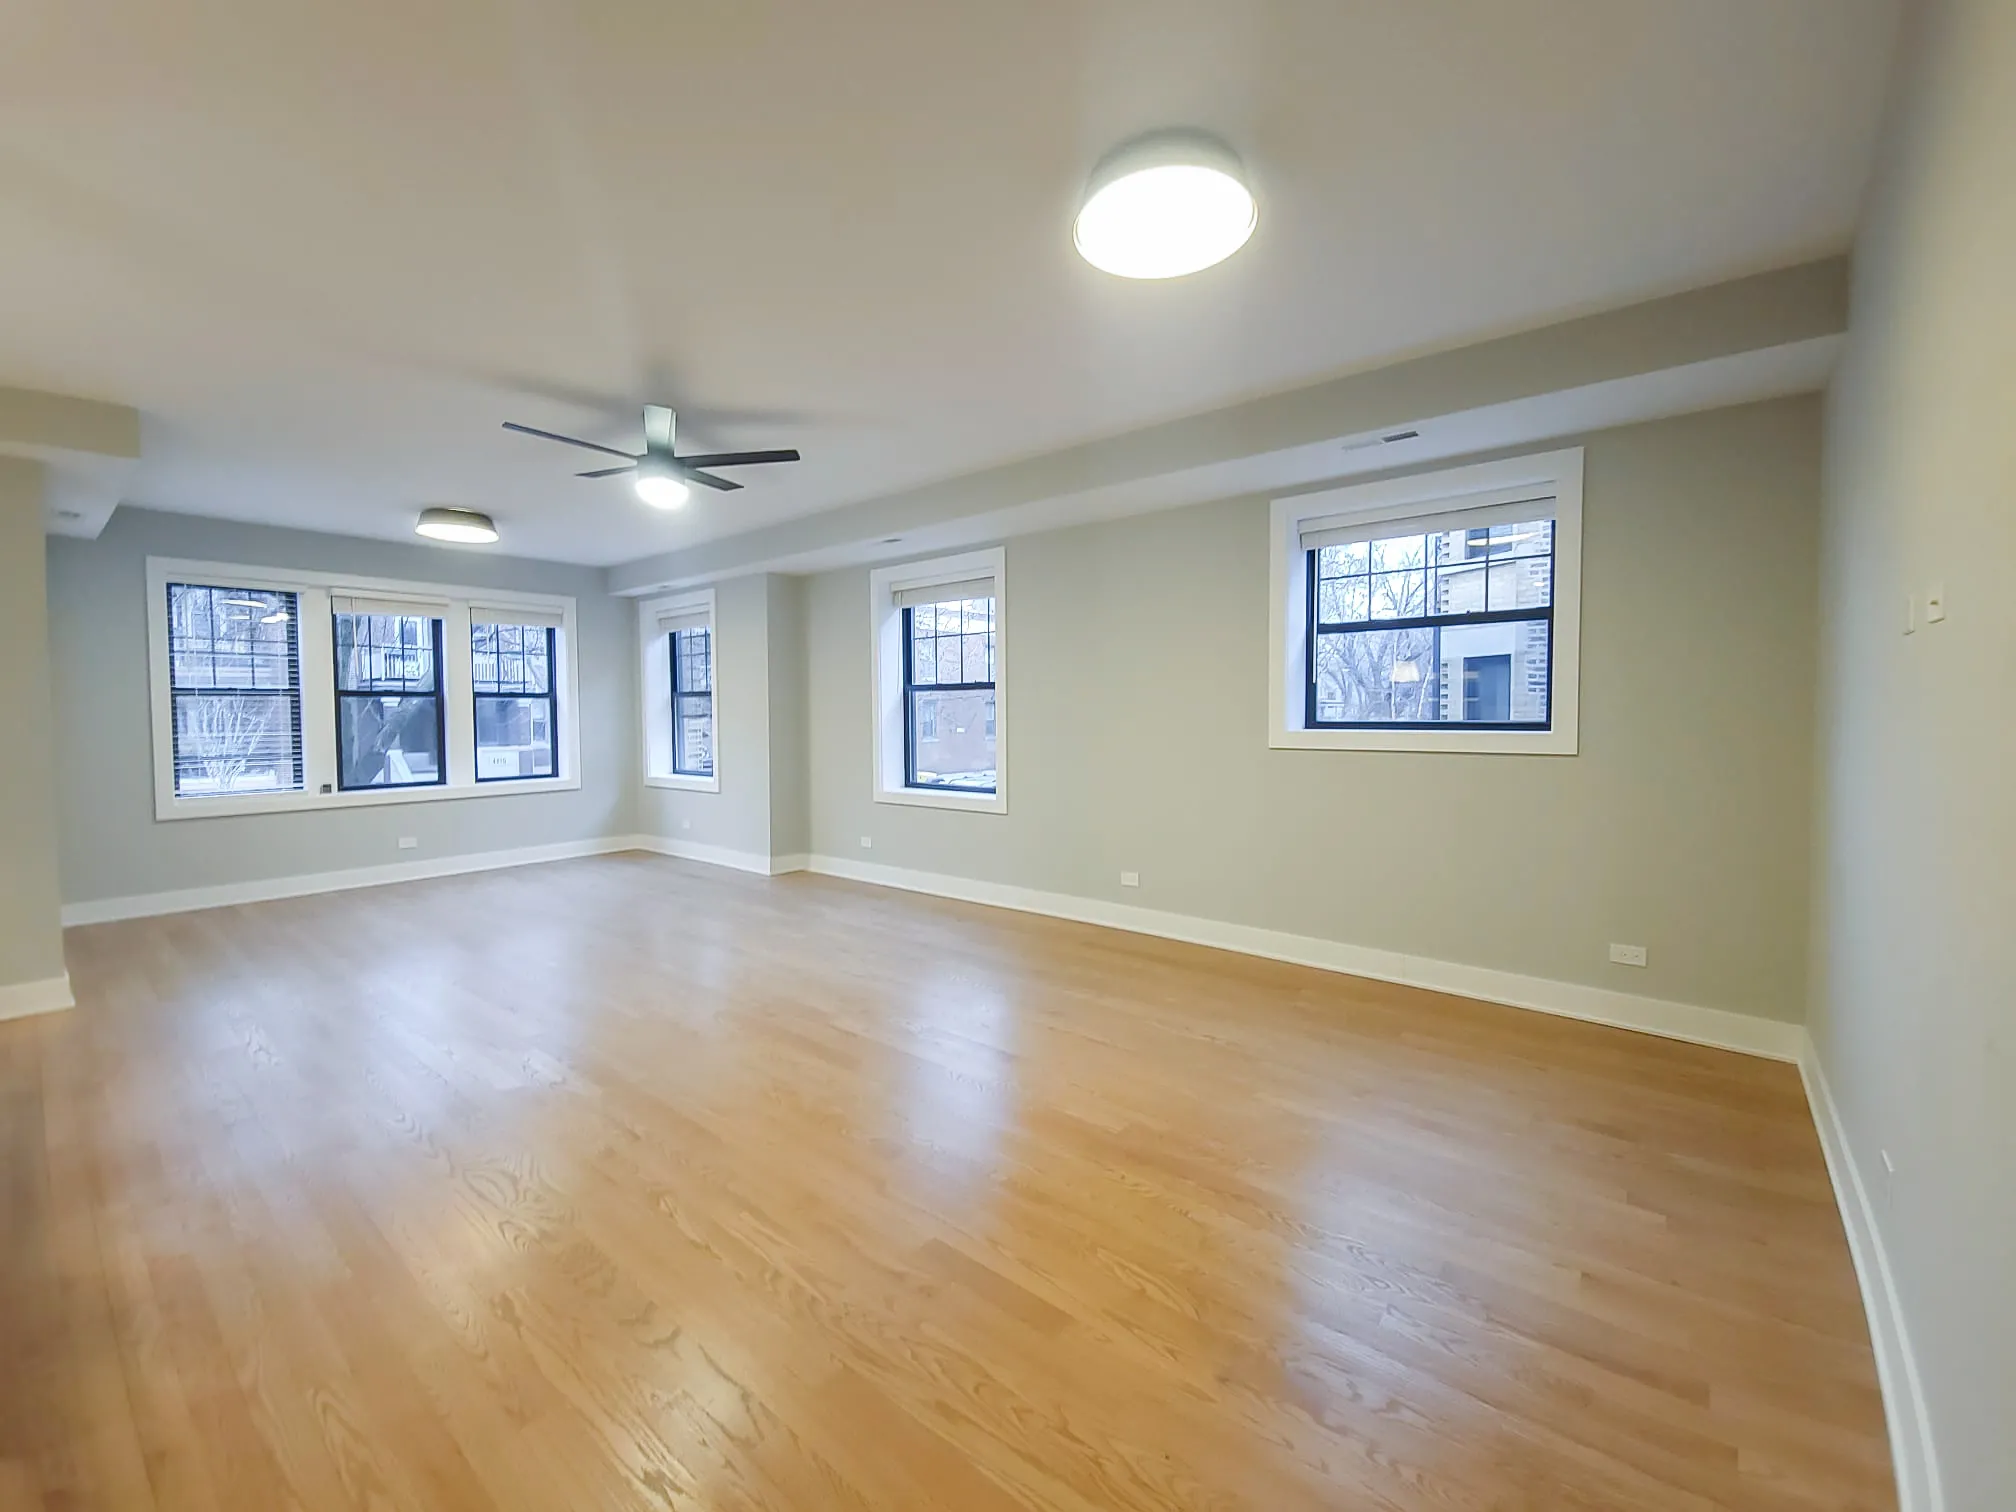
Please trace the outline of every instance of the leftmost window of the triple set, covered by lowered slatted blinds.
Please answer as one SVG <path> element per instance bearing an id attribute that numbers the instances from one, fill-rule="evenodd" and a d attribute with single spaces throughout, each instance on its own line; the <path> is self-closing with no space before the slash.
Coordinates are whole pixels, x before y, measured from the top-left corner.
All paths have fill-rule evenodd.
<path id="1" fill-rule="evenodd" d="M 292 593 L 167 585 L 177 798 L 300 792 L 298 627 Z"/>

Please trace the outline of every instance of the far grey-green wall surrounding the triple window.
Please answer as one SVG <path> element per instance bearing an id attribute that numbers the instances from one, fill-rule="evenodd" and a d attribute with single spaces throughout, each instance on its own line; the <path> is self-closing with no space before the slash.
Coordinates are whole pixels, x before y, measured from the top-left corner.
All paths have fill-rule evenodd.
<path id="1" fill-rule="evenodd" d="M 40 540 L 34 556 L 42 558 Z M 575 595 L 581 788 L 155 821 L 149 556 Z M 595 569 L 121 508 L 97 540 L 48 538 L 46 623 L 67 903 L 558 845 L 635 829 L 635 621 L 627 601 L 603 593 Z M 401 835 L 415 837 L 419 849 L 401 851 Z"/>

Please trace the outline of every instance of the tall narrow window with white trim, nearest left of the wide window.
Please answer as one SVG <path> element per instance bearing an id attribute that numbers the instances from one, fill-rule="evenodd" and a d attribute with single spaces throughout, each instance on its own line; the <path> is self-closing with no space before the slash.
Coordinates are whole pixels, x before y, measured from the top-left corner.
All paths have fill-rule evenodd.
<path id="1" fill-rule="evenodd" d="M 869 575 L 875 798 L 1006 812 L 1006 571 L 978 550 Z"/>

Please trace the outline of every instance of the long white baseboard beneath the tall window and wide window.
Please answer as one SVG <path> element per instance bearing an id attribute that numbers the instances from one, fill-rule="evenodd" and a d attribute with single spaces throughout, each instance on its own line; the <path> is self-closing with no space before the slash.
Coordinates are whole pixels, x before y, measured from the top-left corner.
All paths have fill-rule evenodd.
<path id="1" fill-rule="evenodd" d="M 1191 946 L 1236 950 L 1246 956 L 1266 956 L 1268 960 L 1314 966 L 1325 972 L 1401 982 L 1411 988 L 1452 992 L 1460 998 L 1484 998 L 1486 1002 L 1534 1008 L 1544 1014 L 1560 1014 L 1562 1018 L 1583 1018 L 1591 1024 L 1635 1028 L 1645 1034 L 1714 1044 L 1722 1050 L 1742 1050 L 1744 1054 L 1760 1054 L 1772 1060 L 1798 1060 L 1800 1042 L 1804 1040 L 1804 1030 L 1798 1024 L 1732 1014 L 1724 1008 L 1697 1008 L 1687 1002 L 1639 998 L 1629 992 L 1611 992 L 1579 982 L 1518 976 L 1516 972 L 1498 972 L 1488 966 L 1439 962 L 1429 956 L 1401 956 L 1391 950 L 1347 946 L 1316 935 L 1292 935 L 1280 929 L 1224 923 L 1191 913 L 1163 913 L 1161 909 L 1145 909 L 1133 903 L 1109 903 L 1070 893 L 1044 893 L 1034 887 L 1010 887 L 1006 883 L 950 877 L 935 871 L 911 871 L 907 867 L 881 867 L 829 855 L 814 855 L 810 871 L 825 877 L 875 883 L 877 887 L 901 887 L 911 893 L 956 897 L 966 903 L 986 903 L 1022 913 L 1046 913 L 1054 919 L 1101 923 L 1109 929 L 1129 929 L 1141 935 L 1159 935 L 1161 939 L 1183 939 Z"/>

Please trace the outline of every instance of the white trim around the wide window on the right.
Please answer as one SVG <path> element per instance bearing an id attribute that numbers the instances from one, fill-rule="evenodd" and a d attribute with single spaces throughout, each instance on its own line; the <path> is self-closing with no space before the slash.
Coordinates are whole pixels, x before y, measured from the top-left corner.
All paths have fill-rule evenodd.
<path id="1" fill-rule="evenodd" d="M 1550 730 L 1308 730 L 1308 560 L 1302 524 L 1349 516 L 1405 520 L 1462 510 L 1480 494 L 1546 488 L 1554 496 L 1554 655 Z M 1276 750 L 1439 750 L 1498 756 L 1574 756 L 1581 740 L 1583 450 L 1540 452 L 1407 478 L 1276 498 L 1268 585 L 1268 746 Z"/>

